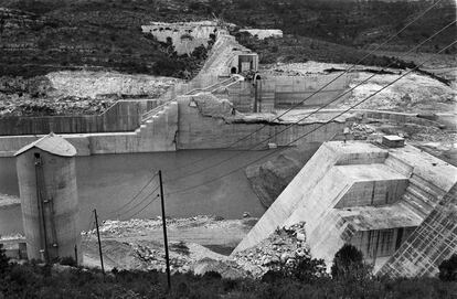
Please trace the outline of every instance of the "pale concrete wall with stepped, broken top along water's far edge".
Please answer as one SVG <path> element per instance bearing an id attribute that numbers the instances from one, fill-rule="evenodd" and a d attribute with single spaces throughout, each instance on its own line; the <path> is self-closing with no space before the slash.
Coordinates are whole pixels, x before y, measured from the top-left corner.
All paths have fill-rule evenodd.
<path id="1" fill-rule="evenodd" d="M 233 116 L 233 105 L 210 93 L 181 96 L 152 110 L 135 131 L 109 134 L 63 135 L 76 149 L 78 156 L 97 153 L 131 153 L 176 151 L 183 149 L 219 149 L 232 146 L 246 149 L 261 142 L 255 149 L 265 149 L 267 143 L 289 145 L 296 138 L 315 130 L 321 122 L 289 126 L 288 122 L 270 122 L 268 119 L 249 119 L 244 115 Z M 267 125 L 259 130 L 261 127 Z M 323 142 L 343 130 L 344 121 L 332 121 L 310 132 L 299 142 Z M 279 131 L 283 131 L 278 134 Z M 255 132 L 255 134 L 253 134 Z M 277 136 L 275 136 L 278 134 Z M 246 136 L 248 138 L 245 138 Z M 40 136 L 0 137 L 0 154 L 9 157 L 19 148 L 39 139 Z M 244 139 L 243 139 L 244 138 Z M 235 143 L 237 140 L 240 142 Z"/>

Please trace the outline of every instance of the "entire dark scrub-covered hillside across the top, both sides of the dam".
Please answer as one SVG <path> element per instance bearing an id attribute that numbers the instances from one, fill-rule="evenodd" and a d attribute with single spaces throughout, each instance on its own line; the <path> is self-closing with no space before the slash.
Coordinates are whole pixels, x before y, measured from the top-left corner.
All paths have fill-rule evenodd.
<path id="1" fill-rule="evenodd" d="M 287 45 L 296 39 L 321 61 L 351 61 L 339 58 L 338 53 L 350 55 L 352 47 L 383 41 L 429 4 L 425 0 L 4 0 L 0 6 L 11 10 L 0 9 L 0 75 L 110 68 L 191 77 L 201 56 L 169 55 L 140 25 L 214 17 L 240 26 L 281 29 L 291 38 L 277 46 L 286 46 L 289 58 L 302 54 Z M 410 49 L 455 18 L 455 2 L 443 0 L 384 50 Z M 455 28 L 449 28 L 423 51 L 436 51 L 454 39 Z M 448 52 L 456 53 L 456 49 Z M 273 55 L 274 51 L 268 58 Z"/>

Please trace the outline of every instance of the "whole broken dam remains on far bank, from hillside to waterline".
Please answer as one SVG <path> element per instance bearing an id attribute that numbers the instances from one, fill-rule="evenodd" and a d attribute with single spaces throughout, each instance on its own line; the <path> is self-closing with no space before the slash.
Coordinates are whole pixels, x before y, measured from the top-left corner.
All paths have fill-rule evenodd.
<path id="1" fill-rule="evenodd" d="M 195 42 L 208 41 L 211 34 L 215 36 L 208 60 L 193 79 L 177 83 L 156 99 L 118 100 L 102 115 L 0 119 L 0 157 L 12 157 L 20 148 L 51 131 L 72 143 L 77 156 L 92 156 L 228 146 L 246 149 L 263 140 L 265 145 L 258 149 L 264 149 L 269 142 L 289 145 L 326 121 L 329 124 L 312 132 L 307 142 L 332 140 L 355 119 L 440 126 L 438 121 L 419 118 L 417 114 L 380 110 L 353 111 L 331 119 L 342 111 L 338 105 L 329 106 L 328 110 L 321 107 L 338 96 L 341 100 L 351 96 L 348 90 L 353 74 L 317 73 L 295 77 L 263 73 L 258 68 L 257 53 L 241 45 L 226 29 L 211 22 L 153 23 L 145 32 L 167 40 L 189 30 L 196 34 Z M 322 88 L 329 82 L 332 82 L 331 86 Z M 212 98 L 211 109 L 208 107 L 209 96 Z M 306 121 L 297 121 L 299 117 L 277 118 L 290 107 L 315 116 Z M 317 108 L 320 110 L 315 113 Z M 249 138 L 242 139 L 246 136 Z M 240 139 L 243 142 L 237 142 Z"/>

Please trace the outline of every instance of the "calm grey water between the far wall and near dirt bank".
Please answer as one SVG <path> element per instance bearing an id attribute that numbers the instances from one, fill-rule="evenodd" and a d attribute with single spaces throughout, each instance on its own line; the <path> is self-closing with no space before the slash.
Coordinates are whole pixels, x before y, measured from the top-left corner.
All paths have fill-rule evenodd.
<path id="1" fill-rule="evenodd" d="M 245 168 L 220 180 L 214 179 L 265 153 L 265 151 L 183 150 L 76 157 L 81 228 L 89 227 L 94 209 L 97 209 L 102 220 L 151 218 L 160 215 L 160 200 L 157 196 L 159 190 L 152 192 L 158 185 L 158 178 L 155 178 L 130 204 L 124 206 L 159 169 L 163 173 L 166 210 L 170 217 L 209 214 L 224 218 L 241 218 L 244 212 L 248 212 L 252 216 L 261 216 L 265 209 L 252 191 L 244 172 Z M 236 158 L 227 162 L 205 169 L 235 154 Z M 277 154 L 279 153 L 276 152 L 266 159 Z M 199 172 L 202 169 L 205 170 Z M 192 174 L 193 172 L 198 173 Z M 176 179 L 178 177 L 185 178 Z M 214 181 L 206 183 L 211 180 Z M 195 185 L 199 186 L 182 193 L 173 193 Z M 0 158 L 0 193 L 19 195 L 14 158 Z M 119 209 L 120 211 L 117 211 Z M 0 235 L 21 232 L 20 207 L 0 210 Z"/>

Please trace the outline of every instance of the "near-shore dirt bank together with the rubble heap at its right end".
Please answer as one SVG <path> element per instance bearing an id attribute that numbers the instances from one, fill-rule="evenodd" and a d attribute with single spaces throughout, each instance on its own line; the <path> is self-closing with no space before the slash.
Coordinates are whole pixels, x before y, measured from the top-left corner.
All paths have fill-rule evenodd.
<path id="1" fill-rule="evenodd" d="M 167 220 L 171 271 L 261 277 L 274 265 L 295 263 L 309 255 L 301 223 L 278 229 L 256 247 L 228 256 L 256 221 L 212 216 Z M 107 221 L 100 226 L 100 236 L 107 269 L 166 270 L 161 220 Z M 96 233 L 83 233 L 82 237 L 84 264 L 99 267 Z"/>

